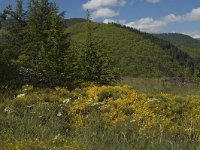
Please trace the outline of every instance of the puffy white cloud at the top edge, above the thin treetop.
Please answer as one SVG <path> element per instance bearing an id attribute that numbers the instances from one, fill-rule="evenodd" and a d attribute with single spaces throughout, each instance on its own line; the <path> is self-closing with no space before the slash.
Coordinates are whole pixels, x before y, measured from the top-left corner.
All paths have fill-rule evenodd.
<path id="1" fill-rule="evenodd" d="M 83 9 L 99 9 L 102 7 L 110 7 L 110 6 L 124 6 L 126 4 L 125 0 L 89 0 L 87 3 L 83 4 Z"/>

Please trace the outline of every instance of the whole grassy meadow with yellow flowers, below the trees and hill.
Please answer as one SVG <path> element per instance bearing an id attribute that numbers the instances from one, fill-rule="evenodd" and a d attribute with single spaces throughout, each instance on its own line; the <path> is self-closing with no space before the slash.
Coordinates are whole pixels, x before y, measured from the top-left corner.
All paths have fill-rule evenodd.
<path id="1" fill-rule="evenodd" d="M 0 149 L 200 149 L 199 85 L 122 83 L 1 94 Z"/>

